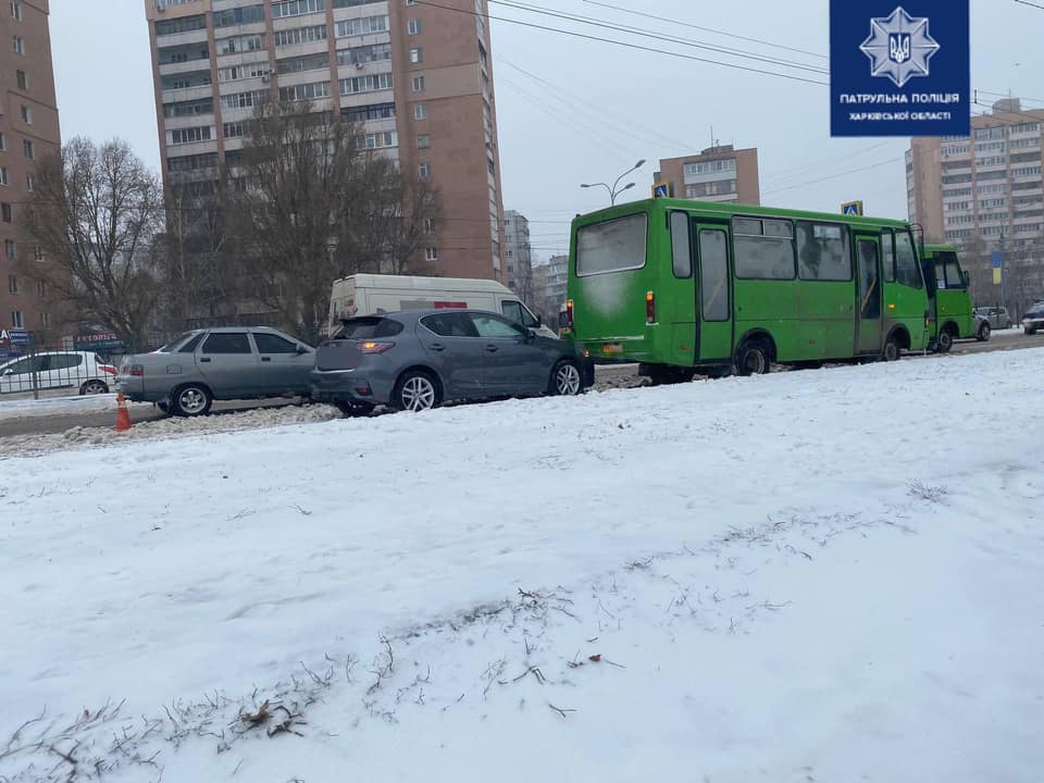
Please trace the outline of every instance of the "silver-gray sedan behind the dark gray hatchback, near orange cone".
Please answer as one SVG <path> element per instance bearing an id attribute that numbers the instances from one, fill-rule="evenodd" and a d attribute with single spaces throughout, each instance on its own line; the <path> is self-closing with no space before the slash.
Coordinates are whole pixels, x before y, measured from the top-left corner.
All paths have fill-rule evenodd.
<path id="1" fill-rule="evenodd" d="M 175 415 L 203 415 L 215 399 L 306 396 L 314 361 L 313 348 L 266 326 L 195 330 L 125 357 L 116 388 Z"/>

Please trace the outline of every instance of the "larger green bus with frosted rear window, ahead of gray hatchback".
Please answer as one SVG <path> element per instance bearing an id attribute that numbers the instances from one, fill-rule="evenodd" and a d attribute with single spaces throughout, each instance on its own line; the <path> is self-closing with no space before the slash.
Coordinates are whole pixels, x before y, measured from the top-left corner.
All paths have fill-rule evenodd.
<path id="1" fill-rule="evenodd" d="M 567 337 L 654 382 L 883 358 L 931 337 L 902 221 L 649 199 L 572 223 Z"/>

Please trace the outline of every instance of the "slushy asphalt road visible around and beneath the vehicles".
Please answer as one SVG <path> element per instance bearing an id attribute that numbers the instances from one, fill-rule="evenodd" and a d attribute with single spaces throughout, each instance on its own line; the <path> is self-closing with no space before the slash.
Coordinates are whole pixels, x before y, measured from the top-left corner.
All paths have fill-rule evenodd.
<path id="1" fill-rule="evenodd" d="M 1023 348 L 1044 348 L 1044 335 L 1027 336 L 1004 335 L 994 337 L 989 343 L 974 340 L 960 341 L 954 345 L 950 353 L 982 353 L 997 350 L 1020 350 Z M 920 358 L 920 357 L 917 357 Z M 924 357 L 931 361 L 934 357 Z M 629 381 L 636 380 L 637 366 L 634 364 L 607 365 L 597 369 L 596 382 L 606 386 L 627 385 Z M 227 415 L 254 408 L 277 408 L 293 405 L 295 400 L 237 400 L 231 402 L 215 402 L 212 415 Z M 3 403 L 0 402 L 0 406 Z M 151 406 L 133 406 L 130 418 L 135 423 L 164 419 L 165 413 Z M 82 427 L 111 427 L 115 425 L 115 410 L 105 413 L 73 413 L 49 417 L 33 417 L 26 419 L 0 419 L 0 437 L 16 437 L 18 435 L 42 435 L 47 433 L 63 433 L 75 426 Z"/>

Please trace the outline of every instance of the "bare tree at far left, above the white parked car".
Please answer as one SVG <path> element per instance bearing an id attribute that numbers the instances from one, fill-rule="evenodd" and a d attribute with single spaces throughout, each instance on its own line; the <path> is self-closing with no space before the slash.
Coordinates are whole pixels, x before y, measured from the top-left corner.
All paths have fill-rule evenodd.
<path id="1" fill-rule="evenodd" d="M 30 274 L 82 321 L 105 326 L 137 350 L 160 295 L 161 214 L 159 181 L 125 141 L 74 138 L 37 167 L 25 222 L 45 260 Z"/>

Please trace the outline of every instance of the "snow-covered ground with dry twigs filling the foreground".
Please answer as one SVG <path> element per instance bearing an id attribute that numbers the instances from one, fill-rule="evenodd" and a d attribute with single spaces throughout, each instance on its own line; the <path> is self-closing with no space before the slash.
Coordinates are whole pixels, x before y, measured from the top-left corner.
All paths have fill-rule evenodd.
<path id="1" fill-rule="evenodd" d="M 3 460 L 0 781 L 1039 781 L 1042 368 Z"/>

